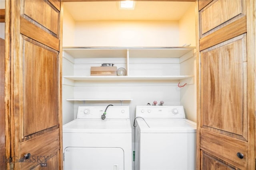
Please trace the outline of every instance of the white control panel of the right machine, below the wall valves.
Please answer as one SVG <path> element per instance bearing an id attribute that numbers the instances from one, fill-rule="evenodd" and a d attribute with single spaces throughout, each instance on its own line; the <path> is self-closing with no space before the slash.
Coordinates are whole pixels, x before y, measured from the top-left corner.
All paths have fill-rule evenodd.
<path id="1" fill-rule="evenodd" d="M 136 117 L 185 118 L 183 106 L 136 106 Z"/>

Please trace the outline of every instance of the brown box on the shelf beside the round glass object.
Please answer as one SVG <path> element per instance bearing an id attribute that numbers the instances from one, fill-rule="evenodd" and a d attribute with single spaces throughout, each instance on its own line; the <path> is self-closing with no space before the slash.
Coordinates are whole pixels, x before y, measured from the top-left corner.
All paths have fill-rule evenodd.
<path id="1" fill-rule="evenodd" d="M 91 76 L 116 76 L 116 66 L 91 66 Z"/>

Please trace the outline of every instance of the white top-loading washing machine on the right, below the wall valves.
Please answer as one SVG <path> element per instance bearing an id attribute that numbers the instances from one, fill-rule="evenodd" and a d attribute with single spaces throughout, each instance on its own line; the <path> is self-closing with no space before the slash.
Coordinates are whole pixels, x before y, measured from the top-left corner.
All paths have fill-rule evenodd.
<path id="1" fill-rule="evenodd" d="M 195 170 L 196 123 L 183 106 L 136 106 L 135 170 Z"/>

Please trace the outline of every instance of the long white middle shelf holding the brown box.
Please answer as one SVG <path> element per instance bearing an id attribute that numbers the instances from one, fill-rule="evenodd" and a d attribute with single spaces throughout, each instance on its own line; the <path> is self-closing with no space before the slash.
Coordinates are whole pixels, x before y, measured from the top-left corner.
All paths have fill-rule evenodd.
<path id="1" fill-rule="evenodd" d="M 194 76 L 63 76 L 75 81 L 104 81 L 104 80 L 183 80 Z"/>

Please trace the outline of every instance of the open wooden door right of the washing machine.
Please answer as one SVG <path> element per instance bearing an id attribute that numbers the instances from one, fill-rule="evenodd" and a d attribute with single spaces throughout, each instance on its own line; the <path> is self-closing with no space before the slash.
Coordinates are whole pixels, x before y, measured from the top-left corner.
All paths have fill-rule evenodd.
<path id="1" fill-rule="evenodd" d="M 198 169 L 255 169 L 255 1 L 199 1 Z"/>

